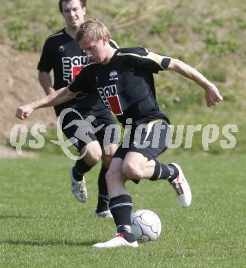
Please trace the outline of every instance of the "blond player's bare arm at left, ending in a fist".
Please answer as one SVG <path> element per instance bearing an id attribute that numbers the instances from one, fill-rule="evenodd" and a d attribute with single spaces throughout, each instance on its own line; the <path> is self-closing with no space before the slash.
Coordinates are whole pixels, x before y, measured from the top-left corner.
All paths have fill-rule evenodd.
<path id="1" fill-rule="evenodd" d="M 48 96 L 41 98 L 39 100 L 35 100 L 30 104 L 23 105 L 17 108 L 15 116 L 19 119 L 28 118 L 32 114 L 34 110 L 44 107 L 52 107 L 63 102 L 67 102 L 74 98 L 79 92 L 72 92 L 68 89 L 68 87 L 63 87 L 57 91 L 50 93 Z"/>

